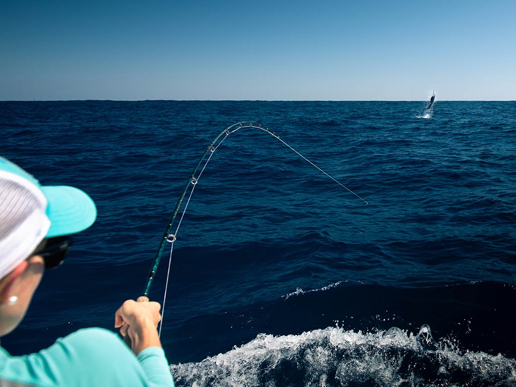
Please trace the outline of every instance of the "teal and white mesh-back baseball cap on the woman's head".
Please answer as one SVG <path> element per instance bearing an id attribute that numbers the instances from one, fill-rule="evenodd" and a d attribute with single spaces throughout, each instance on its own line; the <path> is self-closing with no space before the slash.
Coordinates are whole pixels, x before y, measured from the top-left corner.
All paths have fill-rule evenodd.
<path id="1" fill-rule="evenodd" d="M 34 176 L 0 157 L 0 279 L 43 238 L 86 230 L 95 218 L 95 203 L 84 191 L 42 186 Z"/>

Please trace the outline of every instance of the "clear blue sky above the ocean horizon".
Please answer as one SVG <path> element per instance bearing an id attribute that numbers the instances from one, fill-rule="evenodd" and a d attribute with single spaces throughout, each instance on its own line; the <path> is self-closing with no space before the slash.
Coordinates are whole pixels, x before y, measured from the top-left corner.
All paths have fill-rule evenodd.
<path id="1" fill-rule="evenodd" d="M 512 0 L 0 2 L 0 100 L 516 100 Z"/>

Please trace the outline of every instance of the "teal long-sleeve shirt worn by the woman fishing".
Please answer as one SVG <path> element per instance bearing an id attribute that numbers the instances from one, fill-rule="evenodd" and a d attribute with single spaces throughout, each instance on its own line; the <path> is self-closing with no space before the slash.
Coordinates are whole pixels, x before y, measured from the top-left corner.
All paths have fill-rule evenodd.
<path id="1" fill-rule="evenodd" d="M 0 347 L 0 387 L 174 387 L 162 348 L 138 356 L 120 337 L 100 328 L 81 329 L 25 356 Z"/>

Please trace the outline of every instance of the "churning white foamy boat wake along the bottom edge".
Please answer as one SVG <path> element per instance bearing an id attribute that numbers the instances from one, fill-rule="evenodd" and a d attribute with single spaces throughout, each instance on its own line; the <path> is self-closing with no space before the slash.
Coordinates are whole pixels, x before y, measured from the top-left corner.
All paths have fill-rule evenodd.
<path id="1" fill-rule="evenodd" d="M 516 384 L 516 361 L 436 343 L 391 328 L 330 327 L 299 335 L 259 334 L 198 363 L 171 365 L 178 386 L 499 386 Z"/>

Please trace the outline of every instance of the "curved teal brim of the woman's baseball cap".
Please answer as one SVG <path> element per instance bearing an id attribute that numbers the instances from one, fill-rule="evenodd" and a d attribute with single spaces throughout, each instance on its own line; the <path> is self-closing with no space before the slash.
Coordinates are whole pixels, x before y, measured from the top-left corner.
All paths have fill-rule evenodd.
<path id="1" fill-rule="evenodd" d="M 46 215 L 51 222 L 47 238 L 78 233 L 95 221 L 95 203 L 85 192 L 70 186 L 40 188 L 48 201 Z"/>

